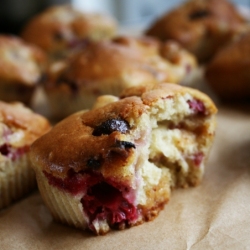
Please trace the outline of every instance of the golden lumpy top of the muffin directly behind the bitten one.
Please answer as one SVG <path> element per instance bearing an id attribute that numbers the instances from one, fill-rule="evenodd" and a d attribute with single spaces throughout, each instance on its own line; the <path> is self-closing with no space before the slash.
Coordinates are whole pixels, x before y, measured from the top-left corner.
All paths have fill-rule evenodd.
<path id="1" fill-rule="evenodd" d="M 86 43 L 78 55 L 61 65 L 50 68 L 48 87 L 68 84 L 75 89 L 101 90 L 107 83 L 121 88 L 164 81 L 177 83 L 196 67 L 196 60 L 173 41 L 117 37 Z"/>

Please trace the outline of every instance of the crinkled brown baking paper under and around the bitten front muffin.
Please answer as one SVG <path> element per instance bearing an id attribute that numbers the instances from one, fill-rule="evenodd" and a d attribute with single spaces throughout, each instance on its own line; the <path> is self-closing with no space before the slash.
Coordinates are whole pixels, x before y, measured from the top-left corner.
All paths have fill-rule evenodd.
<path id="1" fill-rule="evenodd" d="M 36 192 L 0 212 L 0 249 L 249 249 L 250 107 L 219 107 L 217 123 L 202 184 L 154 221 L 94 236 L 53 222 Z"/>

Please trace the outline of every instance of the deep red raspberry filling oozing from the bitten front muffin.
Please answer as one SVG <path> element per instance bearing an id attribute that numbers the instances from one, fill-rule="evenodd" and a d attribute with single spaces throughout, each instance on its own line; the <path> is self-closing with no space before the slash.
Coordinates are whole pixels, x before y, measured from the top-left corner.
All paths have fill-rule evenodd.
<path id="1" fill-rule="evenodd" d="M 111 227 L 129 224 L 138 218 L 134 191 L 96 173 L 69 171 L 64 180 L 44 172 L 49 184 L 73 195 L 84 193 L 81 198 L 84 212 L 89 217 L 89 229 L 95 231 L 94 221 L 106 220 Z"/>

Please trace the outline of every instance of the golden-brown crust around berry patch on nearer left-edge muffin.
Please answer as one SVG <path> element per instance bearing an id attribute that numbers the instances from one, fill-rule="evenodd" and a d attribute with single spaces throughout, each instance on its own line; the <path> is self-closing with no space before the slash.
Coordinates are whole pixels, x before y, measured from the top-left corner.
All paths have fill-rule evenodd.
<path id="1" fill-rule="evenodd" d="M 23 136 L 16 142 L 19 147 L 31 145 L 50 129 L 47 119 L 35 114 L 21 103 L 10 104 L 0 101 L 0 123 L 5 124 L 12 132 L 23 132 Z"/>

